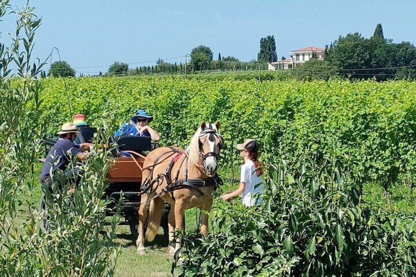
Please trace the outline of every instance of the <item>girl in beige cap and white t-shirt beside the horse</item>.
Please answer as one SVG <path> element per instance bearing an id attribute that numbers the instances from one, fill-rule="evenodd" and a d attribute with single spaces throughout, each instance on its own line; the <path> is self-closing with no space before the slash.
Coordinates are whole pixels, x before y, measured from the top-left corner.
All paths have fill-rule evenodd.
<path id="1" fill-rule="evenodd" d="M 261 174 L 263 173 L 259 157 L 259 144 L 253 139 L 247 139 L 243 144 L 237 144 L 237 150 L 240 151 L 240 157 L 244 159 L 241 166 L 240 186 L 237 190 L 227 193 L 220 197 L 223 200 L 229 200 L 237 195 L 242 194 L 242 202 L 245 206 L 259 206 L 261 199 L 256 203 L 255 194 L 262 194 L 263 186 Z"/>

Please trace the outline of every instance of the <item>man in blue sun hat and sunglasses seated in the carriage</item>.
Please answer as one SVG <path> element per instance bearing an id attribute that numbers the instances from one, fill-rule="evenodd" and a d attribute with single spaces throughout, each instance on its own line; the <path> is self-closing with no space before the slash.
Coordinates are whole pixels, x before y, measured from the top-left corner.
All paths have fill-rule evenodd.
<path id="1" fill-rule="evenodd" d="M 150 126 L 149 123 L 153 121 L 153 116 L 149 115 L 146 110 L 138 110 L 131 118 L 130 123 L 123 124 L 120 129 L 114 134 L 115 137 L 123 135 L 137 136 L 137 137 L 151 137 L 153 141 L 159 141 L 159 134 Z"/>

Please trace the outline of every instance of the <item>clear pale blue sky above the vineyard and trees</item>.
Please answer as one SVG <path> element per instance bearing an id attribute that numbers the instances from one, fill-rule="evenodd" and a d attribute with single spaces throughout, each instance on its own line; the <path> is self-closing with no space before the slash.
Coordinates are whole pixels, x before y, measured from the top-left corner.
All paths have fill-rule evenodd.
<path id="1" fill-rule="evenodd" d="M 13 5 L 24 3 L 12 1 Z M 183 56 L 206 45 L 222 56 L 257 58 L 260 38 L 274 35 L 277 53 L 324 47 L 339 35 L 372 35 L 378 23 L 394 42 L 416 43 L 415 0 L 31 0 L 43 23 L 34 54 L 57 47 L 77 74 L 105 72 L 114 61 Z M 12 21 L 2 24 L 7 31 Z M 52 56 L 57 60 L 57 55 Z M 183 62 L 184 58 L 170 62 Z M 132 64 L 135 68 L 151 63 Z M 95 67 L 90 67 L 95 66 Z M 102 66 L 102 67 L 98 67 Z M 81 68 L 88 67 L 88 68 Z"/>

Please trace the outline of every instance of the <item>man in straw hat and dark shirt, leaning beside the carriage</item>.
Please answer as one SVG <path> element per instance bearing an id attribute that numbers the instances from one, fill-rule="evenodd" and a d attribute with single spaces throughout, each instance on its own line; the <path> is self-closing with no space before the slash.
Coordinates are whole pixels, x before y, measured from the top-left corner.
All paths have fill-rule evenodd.
<path id="1" fill-rule="evenodd" d="M 74 123 L 65 123 L 58 132 L 60 138 L 48 152 L 40 174 L 42 186 L 50 184 L 53 174 L 57 170 L 65 171 L 73 157 L 78 160 L 85 159 L 85 151 L 90 151 L 90 143 L 74 143 L 79 131 Z"/>

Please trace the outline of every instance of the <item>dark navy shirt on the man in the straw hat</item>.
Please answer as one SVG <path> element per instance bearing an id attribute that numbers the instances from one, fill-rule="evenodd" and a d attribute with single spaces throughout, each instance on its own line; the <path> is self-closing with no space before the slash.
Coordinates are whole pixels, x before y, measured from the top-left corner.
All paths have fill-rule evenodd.
<path id="1" fill-rule="evenodd" d="M 47 176 L 50 176 L 51 168 L 52 174 L 58 169 L 64 171 L 72 157 L 76 156 L 79 152 L 79 144 L 75 144 L 69 139 L 59 139 L 45 158 L 45 163 L 40 174 L 41 182 Z M 54 165 L 55 162 L 57 162 L 56 165 Z"/>

